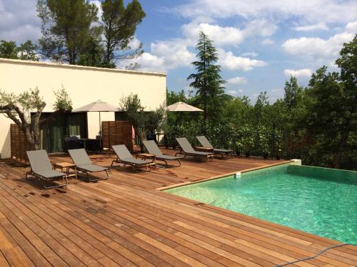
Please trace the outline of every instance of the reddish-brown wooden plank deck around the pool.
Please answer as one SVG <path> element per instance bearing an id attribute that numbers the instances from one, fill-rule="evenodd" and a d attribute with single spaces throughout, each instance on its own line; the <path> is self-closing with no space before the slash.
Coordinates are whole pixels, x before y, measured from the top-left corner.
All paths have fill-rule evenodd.
<path id="1" fill-rule="evenodd" d="M 112 158 L 92 156 L 104 166 Z M 50 190 L 24 180 L 26 168 L 0 163 L 0 266 L 275 266 L 340 244 L 157 190 L 279 163 L 184 160 L 143 173 L 119 167 L 109 180 L 69 179 L 68 188 Z M 291 266 L 356 265 L 357 247 L 343 246 Z"/>

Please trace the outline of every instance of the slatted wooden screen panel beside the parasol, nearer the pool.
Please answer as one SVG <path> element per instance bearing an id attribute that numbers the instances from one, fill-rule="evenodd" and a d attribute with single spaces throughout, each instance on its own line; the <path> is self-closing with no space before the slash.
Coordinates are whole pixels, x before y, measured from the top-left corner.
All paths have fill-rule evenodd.
<path id="1" fill-rule="evenodd" d="M 129 150 L 133 150 L 131 124 L 126 120 L 101 122 L 101 131 L 103 147 L 111 148 L 112 145 L 126 145 Z"/>

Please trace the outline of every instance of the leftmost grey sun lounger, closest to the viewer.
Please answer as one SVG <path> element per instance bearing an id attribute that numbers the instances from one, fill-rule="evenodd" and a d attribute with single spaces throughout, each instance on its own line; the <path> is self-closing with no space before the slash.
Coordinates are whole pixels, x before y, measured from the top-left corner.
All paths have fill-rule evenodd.
<path id="1" fill-rule="evenodd" d="M 44 184 L 45 189 L 56 188 L 56 187 L 66 187 L 68 185 L 67 174 L 63 172 L 58 172 L 53 169 L 51 162 L 49 161 L 49 156 L 47 155 L 46 150 L 32 150 L 26 151 L 27 157 L 31 165 L 30 172 L 26 172 L 27 175 L 31 174 L 32 176 L 41 180 Z M 58 184 L 52 187 L 46 187 L 44 181 L 51 181 L 52 179 L 61 178 L 64 180 L 64 184 Z"/>

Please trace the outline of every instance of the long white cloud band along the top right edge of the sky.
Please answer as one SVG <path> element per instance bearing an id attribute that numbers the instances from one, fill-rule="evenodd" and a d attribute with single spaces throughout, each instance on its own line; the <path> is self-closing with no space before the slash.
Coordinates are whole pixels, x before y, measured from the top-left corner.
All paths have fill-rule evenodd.
<path id="1" fill-rule="evenodd" d="M 355 0 L 193 0 L 174 8 L 174 12 L 183 17 L 230 18 L 240 16 L 243 19 L 268 18 L 281 21 L 291 17 L 306 23 L 347 23 L 357 19 Z"/>

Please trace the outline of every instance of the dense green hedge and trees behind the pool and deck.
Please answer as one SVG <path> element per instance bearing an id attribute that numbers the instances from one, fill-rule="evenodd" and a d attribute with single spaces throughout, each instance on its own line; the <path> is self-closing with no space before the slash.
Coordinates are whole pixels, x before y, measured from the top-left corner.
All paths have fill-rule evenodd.
<path id="1" fill-rule="evenodd" d="M 206 125 L 201 114 L 169 112 L 166 145 L 175 145 L 175 137 L 181 136 L 195 144 L 195 136 L 205 133 L 215 147 L 357 170 L 357 36 L 343 45 L 336 65 L 340 72 L 328 72 L 325 66 L 316 70 L 307 88 L 291 77 L 283 98 L 273 104 L 263 92 L 254 105 L 246 96 L 221 99 L 219 120 Z M 168 105 L 178 100 L 197 103 L 197 97 L 183 91 L 167 96 Z"/>

